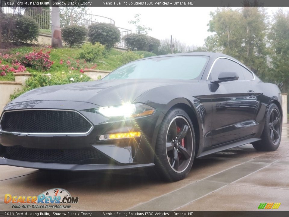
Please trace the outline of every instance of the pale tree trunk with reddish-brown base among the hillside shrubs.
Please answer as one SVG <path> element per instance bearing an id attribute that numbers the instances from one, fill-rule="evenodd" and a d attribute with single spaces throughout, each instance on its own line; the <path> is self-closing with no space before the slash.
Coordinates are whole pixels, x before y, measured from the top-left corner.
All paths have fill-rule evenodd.
<path id="1" fill-rule="evenodd" d="M 58 0 L 53 0 L 58 2 Z M 59 7 L 51 7 L 51 46 L 62 48 Z"/>

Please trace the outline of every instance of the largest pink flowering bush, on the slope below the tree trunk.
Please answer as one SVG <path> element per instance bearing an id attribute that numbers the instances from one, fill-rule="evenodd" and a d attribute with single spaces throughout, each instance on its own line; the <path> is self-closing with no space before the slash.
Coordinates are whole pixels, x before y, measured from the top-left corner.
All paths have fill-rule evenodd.
<path id="1" fill-rule="evenodd" d="M 50 51 L 44 53 L 42 49 L 38 52 L 30 52 L 21 57 L 20 63 L 38 71 L 47 71 L 53 64 L 53 62 L 50 61 L 49 53 Z"/>

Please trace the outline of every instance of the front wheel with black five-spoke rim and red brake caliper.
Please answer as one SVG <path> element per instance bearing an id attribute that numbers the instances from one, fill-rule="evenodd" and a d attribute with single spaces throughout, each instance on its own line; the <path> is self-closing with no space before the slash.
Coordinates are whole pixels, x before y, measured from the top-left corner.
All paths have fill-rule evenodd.
<path id="1" fill-rule="evenodd" d="M 164 181 L 179 181 L 191 170 L 194 155 L 195 134 L 191 119 L 184 110 L 173 108 L 160 125 L 155 148 L 155 171 Z"/>

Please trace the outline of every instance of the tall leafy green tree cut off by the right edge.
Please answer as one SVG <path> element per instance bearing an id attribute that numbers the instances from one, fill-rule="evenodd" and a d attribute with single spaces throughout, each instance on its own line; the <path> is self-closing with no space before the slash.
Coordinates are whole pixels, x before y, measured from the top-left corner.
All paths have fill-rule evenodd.
<path id="1" fill-rule="evenodd" d="M 281 9 L 274 14 L 272 27 L 268 35 L 272 52 L 270 54 L 274 80 L 281 91 L 289 91 L 289 12 Z"/>

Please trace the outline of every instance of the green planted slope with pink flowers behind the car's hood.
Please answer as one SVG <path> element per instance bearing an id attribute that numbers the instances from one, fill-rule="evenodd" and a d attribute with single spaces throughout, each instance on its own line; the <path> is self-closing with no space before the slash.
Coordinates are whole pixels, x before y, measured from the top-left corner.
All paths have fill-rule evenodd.
<path id="1" fill-rule="evenodd" d="M 93 45 L 95 46 L 95 45 Z M 99 45 L 102 46 L 102 45 Z M 92 61 L 80 58 L 81 48 L 51 48 L 51 46 L 19 46 L 2 49 L 0 54 L 0 81 L 15 81 L 14 73 L 31 73 L 23 90 L 11 95 L 11 99 L 34 88 L 50 85 L 90 81 L 85 71 L 113 71 L 121 65 L 142 58 L 131 51 L 103 50 Z M 85 55 L 84 55 L 85 56 Z M 98 76 L 94 79 L 100 79 Z"/>

